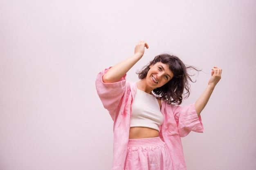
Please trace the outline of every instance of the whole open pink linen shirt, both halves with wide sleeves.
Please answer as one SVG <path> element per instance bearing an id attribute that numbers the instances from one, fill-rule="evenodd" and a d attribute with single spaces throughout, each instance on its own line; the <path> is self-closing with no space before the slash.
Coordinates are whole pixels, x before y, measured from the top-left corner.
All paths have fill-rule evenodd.
<path id="1" fill-rule="evenodd" d="M 124 170 L 127 144 L 129 139 L 132 99 L 137 92 L 136 83 L 126 81 L 126 75 L 115 83 L 103 83 L 102 76 L 108 71 L 101 71 L 96 78 L 96 89 L 105 109 L 114 121 L 114 144 L 112 170 Z M 166 143 L 171 155 L 173 170 L 186 170 L 180 137 L 190 131 L 203 132 L 201 117 L 195 111 L 195 105 L 169 105 L 161 100 L 161 112 L 164 116 L 159 126 L 159 136 Z"/>

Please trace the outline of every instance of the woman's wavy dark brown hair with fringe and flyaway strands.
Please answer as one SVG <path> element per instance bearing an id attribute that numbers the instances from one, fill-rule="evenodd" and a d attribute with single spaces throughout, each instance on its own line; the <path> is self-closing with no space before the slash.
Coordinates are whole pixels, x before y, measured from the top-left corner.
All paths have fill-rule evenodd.
<path id="1" fill-rule="evenodd" d="M 188 74 L 188 70 L 201 71 L 198 68 L 195 68 L 190 65 L 185 65 L 178 57 L 170 54 L 160 54 L 157 55 L 154 60 L 150 61 L 148 65 L 144 66 L 142 70 L 136 72 L 139 76 L 139 79 L 146 78 L 150 65 L 155 63 L 162 62 L 168 65 L 168 68 L 173 72 L 173 78 L 168 81 L 162 87 L 155 88 L 153 93 L 155 93 L 160 98 L 164 98 L 168 101 L 168 104 L 180 105 L 182 103 L 183 96 L 188 98 L 190 94 L 190 84 L 189 81 L 192 81 Z"/>

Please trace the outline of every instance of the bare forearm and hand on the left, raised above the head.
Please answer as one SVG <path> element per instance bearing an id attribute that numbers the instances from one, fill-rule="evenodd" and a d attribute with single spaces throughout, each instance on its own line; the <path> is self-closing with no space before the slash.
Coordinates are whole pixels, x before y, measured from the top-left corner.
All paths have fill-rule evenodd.
<path id="1" fill-rule="evenodd" d="M 145 47 L 148 48 L 148 44 L 145 41 L 139 41 L 135 46 L 134 55 L 110 68 L 108 72 L 103 75 L 103 82 L 115 83 L 119 81 L 132 68 L 132 66 L 141 59 L 144 55 Z"/>

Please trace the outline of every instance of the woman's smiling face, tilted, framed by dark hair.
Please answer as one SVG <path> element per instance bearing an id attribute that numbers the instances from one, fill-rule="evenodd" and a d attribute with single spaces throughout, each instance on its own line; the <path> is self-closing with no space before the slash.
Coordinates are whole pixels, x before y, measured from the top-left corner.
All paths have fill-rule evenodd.
<path id="1" fill-rule="evenodd" d="M 162 62 L 150 65 L 149 68 L 146 83 L 152 90 L 157 87 L 162 87 L 173 78 L 173 72 L 169 69 L 168 65 Z"/>

